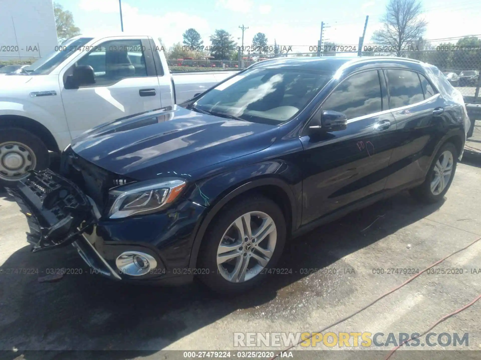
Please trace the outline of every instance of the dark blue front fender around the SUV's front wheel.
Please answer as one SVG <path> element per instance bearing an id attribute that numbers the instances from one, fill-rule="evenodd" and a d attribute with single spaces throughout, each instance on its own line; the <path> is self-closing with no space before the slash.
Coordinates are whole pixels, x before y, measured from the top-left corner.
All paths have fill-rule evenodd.
<path id="1" fill-rule="evenodd" d="M 298 228 L 302 216 L 302 177 L 294 164 L 284 160 L 267 160 L 194 183 L 189 199 L 208 210 L 194 232 L 191 268 L 195 268 L 204 233 L 220 209 L 234 197 L 266 185 L 276 186 L 287 195 L 292 212 L 291 228 Z"/>

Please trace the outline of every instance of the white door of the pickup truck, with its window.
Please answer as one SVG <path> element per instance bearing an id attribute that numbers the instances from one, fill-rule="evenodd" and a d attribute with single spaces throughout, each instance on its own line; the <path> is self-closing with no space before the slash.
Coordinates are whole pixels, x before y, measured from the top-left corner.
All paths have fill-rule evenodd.
<path id="1" fill-rule="evenodd" d="M 84 53 L 59 79 L 72 138 L 101 123 L 162 107 L 147 36 L 109 37 L 77 51 Z M 78 65 L 94 69 L 95 84 L 66 89 L 65 80 Z"/>

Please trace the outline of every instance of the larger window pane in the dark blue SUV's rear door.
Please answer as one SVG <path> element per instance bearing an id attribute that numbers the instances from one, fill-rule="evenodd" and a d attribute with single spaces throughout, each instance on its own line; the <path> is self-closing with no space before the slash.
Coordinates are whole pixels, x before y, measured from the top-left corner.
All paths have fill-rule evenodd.
<path id="1" fill-rule="evenodd" d="M 418 73 L 409 70 L 385 70 L 389 89 L 389 107 L 401 108 L 424 100 Z"/>

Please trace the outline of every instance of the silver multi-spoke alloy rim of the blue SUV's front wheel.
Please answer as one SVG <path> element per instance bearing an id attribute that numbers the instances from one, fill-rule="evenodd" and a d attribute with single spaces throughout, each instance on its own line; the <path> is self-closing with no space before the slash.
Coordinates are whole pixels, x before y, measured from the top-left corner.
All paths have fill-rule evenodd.
<path id="1" fill-rule="evenodd" d="M 276 243 L 274 220 L 261 211 L 248 212 L 224 232 L 217 248 L 217 269 L 230 282 L 248 281 L 269 263 Z"/>

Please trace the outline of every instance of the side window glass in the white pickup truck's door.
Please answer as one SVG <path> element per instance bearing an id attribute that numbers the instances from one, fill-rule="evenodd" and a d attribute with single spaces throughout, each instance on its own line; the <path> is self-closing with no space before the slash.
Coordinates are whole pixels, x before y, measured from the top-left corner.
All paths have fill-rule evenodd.
<path id="1" fill-rule="evenodd" d="M 110 40 L 96 46 L 76 65 L 90 65 L 95 73 L 94 86 L 108 86 L 128 77 L 147 76 L 144 50 L 140 40 Z"/>

